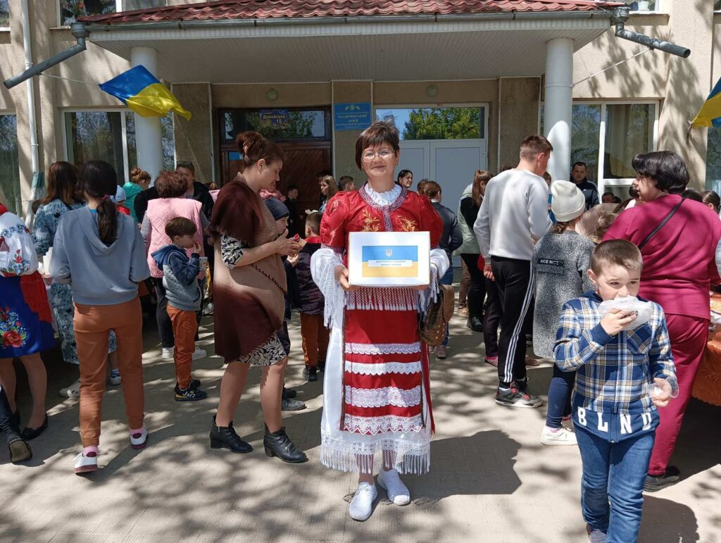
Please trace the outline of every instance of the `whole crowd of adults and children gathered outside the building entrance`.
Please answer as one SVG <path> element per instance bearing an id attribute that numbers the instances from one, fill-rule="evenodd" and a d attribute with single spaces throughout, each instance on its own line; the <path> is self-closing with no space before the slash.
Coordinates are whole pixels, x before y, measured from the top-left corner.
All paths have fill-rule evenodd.
<path id="1" fill-rule="evenodd" d="M 516 167 L 475 172 L 454 211 L 441 183 L 420 180 L 414 191 L 412 172 L 394 173 L 399 133 L 378 121 L 355 144 L 367 182 L 321 171 L 319 208 L 300 213 L 297 185 L 286 196 L 276 190 L 280 147 L 255 132 L 238 134 L 236 144 L 242 172 L 220 190 L 195 180 L 191 162 L 160 172 L 152 186 L 138 168 L 122 183 L 107 162 L 56 162 L 32 231 L 0 195 L 0 426 L 12 462 L 29 459 L 28 442 L 48 426 L 40 353 L 55 345 L 53 326 L 63 361 L 79 368 L 79 380 L 61 389 L 79 397 L 74 472 L 98 468 L 106 383 L 122 384 L 131 447 L 146 446 L 146 296 L 161 356 L 174 361 L 177 402 L 208 398 L 192 369 L 207 355 L 196 344 L 201 316 L 213 314 L 226 369 L 211 448 L 252 451 L 233 419 L 251 366 L 260 366 L 265 454 L 306 462 L 282 418 L 305 407 L 284 386 L 295 310 L 303 376 L 323 377 L 320 462 L 359 474 L 350 517 L 371 516 L 375 474 L 393 503 L 407 504 L 399 475 L 430 467 L 430 356 L 453 352 L 447 325 L 428 348 L 419 313 L 454 283 L 451 262 L 460 256 L 459 313 L 483 335 L 484 361 L 497 368 L 495 403 L 541 407 L 526 367 L 551 361 L 540 441 L 580 449 L 591 541 L 635 540 L 642 492 L 681 477 L 668 462 L 707 340 L 709 288 L 721 282 L 719 195 L 687 189 L 684 162 L 658 151 L 634 158 L 628 200 L 599 198 L 582 162 L 552 180 L 552 145 L 529 136 Z M 428 285 L 351 285 L 348 240 L 358 231 L 428 232 Z M 22 432 L 14 358 L 32 394 Z"/>

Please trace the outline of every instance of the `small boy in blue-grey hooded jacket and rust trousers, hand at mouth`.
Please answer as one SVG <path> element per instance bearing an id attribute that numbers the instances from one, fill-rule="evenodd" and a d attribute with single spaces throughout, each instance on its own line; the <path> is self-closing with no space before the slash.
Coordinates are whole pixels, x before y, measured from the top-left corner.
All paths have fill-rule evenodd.
<path id="1" fill-rule="evenodd" d="M 172 244 L 152 254 L 158 268 L 163 270 L 163 287 L 168 300 L 167 312 L 173 325 L 175 348 L 176 402 L 195 402 L 208 397 L 200 390 L 200 381 L 190 376 L 195 351 L 196 314 L 200 311 L 203 291 L 200 290 L 200 245 L 195 241 L 195 223 L 185 217 L 175 217 L 165 224 L 165 233 Z M 190 257 L 187 250 L 193 250 Z M 206 260 L 207 262 L 207 260 Z M 205 270 L 203 270 L 205 271 Z"/>

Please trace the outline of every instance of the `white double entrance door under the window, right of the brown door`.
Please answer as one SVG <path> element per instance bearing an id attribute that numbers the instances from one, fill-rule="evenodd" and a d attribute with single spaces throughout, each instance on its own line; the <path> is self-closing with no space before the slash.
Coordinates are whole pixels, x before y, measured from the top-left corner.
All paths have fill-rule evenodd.
<path id="1" fill-rule="evenodd" d="M 443 189 L 443 206 L 458 211 L 463 190 L 473 182 L 477 169 L 487 169 L 485 139 L 404 140 L 396 176 L 402 169 L 413 172 L 414 187 L 430 179 Z M 454 266 L 460 266 L 458 257 Z"/>

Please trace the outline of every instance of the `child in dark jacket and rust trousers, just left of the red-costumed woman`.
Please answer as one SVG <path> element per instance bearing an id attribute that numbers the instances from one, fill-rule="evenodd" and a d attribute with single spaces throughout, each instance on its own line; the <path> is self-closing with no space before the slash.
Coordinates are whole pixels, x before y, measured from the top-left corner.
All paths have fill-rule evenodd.
<path id="1" fill-rule="evenodd" d="M 298 254 L 296 277 L 301 299 L 301 336 L 306 368 L 303 376 L 309 381 L 318 380 L 318 370 L 325 368 L 330 333 L 323 324 L 325 300 L 311 277 L 311 256 L 320 249 L 321 213 L 310 213 L 306 218 L 306 244 Z"/>

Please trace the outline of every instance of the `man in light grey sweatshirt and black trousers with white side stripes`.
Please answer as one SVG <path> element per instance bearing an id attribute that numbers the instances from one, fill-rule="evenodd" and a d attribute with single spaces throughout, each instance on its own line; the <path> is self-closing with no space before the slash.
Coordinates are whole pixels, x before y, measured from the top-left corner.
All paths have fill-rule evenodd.
<path id="1" fill-rule="evenodd" d="M 521 142 L 518 167 L 493 177 L 486 187 L 474 231 L 486 261 L 484 273 L 500 294 L 501 318 L 496 403 L 540 407 L 526 392 L 526 341 L 523 321 L 534 294 L 531 268 L 534 244 L 553 226 L 548 215 L 548 185 L 541 177 L 553 147 L 543 136 Z"/>

